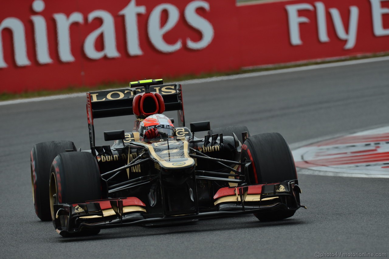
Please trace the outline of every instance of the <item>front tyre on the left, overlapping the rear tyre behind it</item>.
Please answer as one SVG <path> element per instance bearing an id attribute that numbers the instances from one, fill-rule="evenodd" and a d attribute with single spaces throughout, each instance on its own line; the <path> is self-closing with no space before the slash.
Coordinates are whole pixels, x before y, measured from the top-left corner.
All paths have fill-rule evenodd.
<path id="1" fill-rule="evenodd" d="M 49 189 L 54 226 L 54 204 L 101 200 L 100 170 L 96 158 L 89 152 L 58 154 L 51 165 Z M 76 235 L 96 235 L 99 232 L 100 229 L 84 229 Z"/>

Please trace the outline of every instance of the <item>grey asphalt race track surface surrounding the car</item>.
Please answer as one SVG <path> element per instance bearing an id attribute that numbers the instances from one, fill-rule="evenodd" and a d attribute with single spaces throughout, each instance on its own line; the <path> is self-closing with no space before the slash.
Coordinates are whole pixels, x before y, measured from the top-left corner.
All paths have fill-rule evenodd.
<path id="1" fill-rule="evenodd" d="M 183 86 L 186 121 L 245 124 L 293 144 L 389 123 L 389 61 Z M 105 229 L 62 238 L 35 215 L 30 150 L 47 140 L 88 149 L 85 98 L 0 107 L 2 258 L 314 258 L 321 253 L 389 252 L 389 179 L 299 175 L 308 207 L 284 221 L 252 215 L 160 228 Z M 95 121 L 127 129 L 131 117 Z M 200 137 L 200 136 L 198 136 Z"/>

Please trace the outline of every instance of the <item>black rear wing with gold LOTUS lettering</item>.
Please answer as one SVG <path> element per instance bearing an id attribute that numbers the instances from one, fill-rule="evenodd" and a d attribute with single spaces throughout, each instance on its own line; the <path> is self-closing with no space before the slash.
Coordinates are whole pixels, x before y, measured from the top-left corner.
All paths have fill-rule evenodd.
<path id="1" fill-rule="evenodd" d="M 90 92 L 86 94 L 86 111 L 88 115 L 91 149 L 95 147 L 95 129 L 93 120 L 98 118 L 133 115 L 132 100 L 136 94 L 145 92 L 145 87 L 139 82 L 138 84 L 135 84 L 139 87 Z M 134 82 L 131 82 L 131 86 L 134 85 L 133 83 Z M 163 101 L 165 102 L 165 111 L 177 111 L 179 127 L 184 127 L 184 103 L 182 101 L 181 84 L 153 85 L 149 86 L 149 88 L 151 92 L 162 95 Z"/>

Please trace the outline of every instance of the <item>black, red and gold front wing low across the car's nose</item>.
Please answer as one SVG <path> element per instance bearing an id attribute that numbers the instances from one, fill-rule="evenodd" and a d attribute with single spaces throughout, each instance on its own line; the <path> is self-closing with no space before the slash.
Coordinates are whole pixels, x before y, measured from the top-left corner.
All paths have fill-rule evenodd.
<path id="1" fill-rule="evenodd" d="M 70 236 L 88 229 L 160 224 L 221 216 L 297 210 L 300 188 L 297 180 L 271 184 L 224 187 L 214 196 L 214 210 L 184 215 L 148 215 L 145 204 L 135 197 L 96 200 L 84 203 L 57 204 L 56 231 Z"/>

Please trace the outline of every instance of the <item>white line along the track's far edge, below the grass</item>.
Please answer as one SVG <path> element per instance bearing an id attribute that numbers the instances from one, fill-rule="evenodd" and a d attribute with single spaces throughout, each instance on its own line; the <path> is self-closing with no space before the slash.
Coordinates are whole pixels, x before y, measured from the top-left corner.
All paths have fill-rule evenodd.
<path id="1" fill-rule="evenodd" d="M 295 67 L 295 68 L 285 68 L 285 69 L 270 70 L 270 71 L 263 71 L 263 72 L 245 73 L 245 74 L 240 74 L 240 75 L 227 75 L 227 76 L 221 76 L 221 77 L 191 79 L 191 80 L 186 80 L 186 81 L 180 81 L 177 83 L 184 84 L 184 85 L 201 84 L 201 83 L 216 82 L 216 81 L 222 81 L 222 80 L 233 80 L 233 79 L 241 79 L 241 78 L 247 78 L 247 77 L 259 77 L 259 76 L 263 76 L 263 75 L 275 75 L 275 74 L 280 74 L 280 73 L 291 73 L 291 72 L 307 71 L 307 70 L 314 70 L 314 69 L 321 69 L 321 68 L 330 68 L 330 67 L 336 67 L 336 66 L 349 66 L 349 65 L 357 65 L 357 64 L 364 64 L 364 63 L 371 63 L 371 62 L 387 61 L 387 60 L 389 60 L 389 56 L 379 57 L 379 58 L 358 59 L 358 60 L 351 60 L 351 61 L 342 61 L 342 62 L 336 62 L 336 63 L 326 63 L 326 64 L 321 64 L 321 65 L 300 66 L 300 67 Z M 9 104 L 18 104 L 18 103 L 29 103 L 29 102 L 33 102 L 33 101 L 58 100 L 58 99 L 66 99 L 66 98 L 82 97 L 82 96 L 85 96 L 85 93 L 61 94 L 61 95 L 45 96 L 45 97 L 38 97 L 38 98 L 27 98 L 27 99 L 18 99 L 18 100 L 10 100 L 10 101 L 0 101 L 0 106 L 1 105 L 9 105 Z"/>

